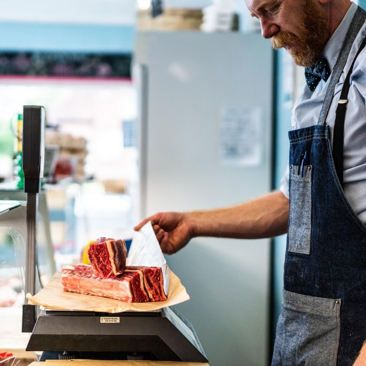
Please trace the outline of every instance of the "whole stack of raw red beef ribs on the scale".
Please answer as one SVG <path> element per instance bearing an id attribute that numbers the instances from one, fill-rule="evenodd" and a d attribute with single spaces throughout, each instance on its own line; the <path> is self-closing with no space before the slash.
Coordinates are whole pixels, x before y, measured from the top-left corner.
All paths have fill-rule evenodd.
<path id="1" fill-rule="evenodd" d="M 63 289 L 124 302 L 164 301 L 160 267 L 126 266 L 126 243 L 100 238 L 88 248 L 90 265 L 64 266 Z"/>

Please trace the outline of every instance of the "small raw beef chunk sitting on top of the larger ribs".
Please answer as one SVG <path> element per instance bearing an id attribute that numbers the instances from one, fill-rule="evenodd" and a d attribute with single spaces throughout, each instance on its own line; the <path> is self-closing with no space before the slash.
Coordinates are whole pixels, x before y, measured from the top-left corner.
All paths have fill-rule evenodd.
<path id="1" fill-rule="evenodd" d="M 116 277 L 126 267 L 127 249 L 124 240 L 99 238 L 87 250 L 94 273 L 100 278 Z"/>

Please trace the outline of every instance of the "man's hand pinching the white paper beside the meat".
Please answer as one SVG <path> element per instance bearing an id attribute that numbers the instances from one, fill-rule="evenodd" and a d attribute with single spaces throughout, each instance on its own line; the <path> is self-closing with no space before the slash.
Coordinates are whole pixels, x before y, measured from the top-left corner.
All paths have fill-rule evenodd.
<path id="1" fill-rule="evenodd" d="M 194 228 L 188 213 L 164 212 L 147 217 L 134 229 L 138 231 L 148 221 L 153 225 L 156 238 L 165 254 L 173 254 L 182 249 L 194 236 Z"/>

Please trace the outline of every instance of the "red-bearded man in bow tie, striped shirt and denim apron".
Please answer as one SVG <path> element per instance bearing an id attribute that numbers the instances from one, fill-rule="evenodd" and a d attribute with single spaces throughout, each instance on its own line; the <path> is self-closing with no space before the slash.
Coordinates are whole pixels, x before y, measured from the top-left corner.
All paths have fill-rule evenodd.
<path id="1" fill-rule="evenodd" d="M 262 36 L 305 67 L 280 191 L 135 229 L 151 220 L 168 254 L 196 236 L 288 232 L 272 365 L 366 365 L 366 13 L 349 0 L 245 1 Z"/>

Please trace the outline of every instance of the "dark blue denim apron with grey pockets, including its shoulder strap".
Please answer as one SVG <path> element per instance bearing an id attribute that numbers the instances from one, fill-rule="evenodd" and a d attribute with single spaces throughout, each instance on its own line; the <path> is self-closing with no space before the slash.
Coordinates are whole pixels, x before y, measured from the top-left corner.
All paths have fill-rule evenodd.
<path id="1" fill-rule="evenodd" d="M 272 366 L 352 365 L 366 339 L 366 227 L 342 189 L 344 115 L 354 63 L 338 101 L 333 153 L 325 123 L 365 18 L 358 8 L 332 71 L 318 124 L 289 132 L 290 216 Z M 359 52 L 365 44 L 366 40 Z M 339 154 L 335 149 L 340 145 Z"/>

